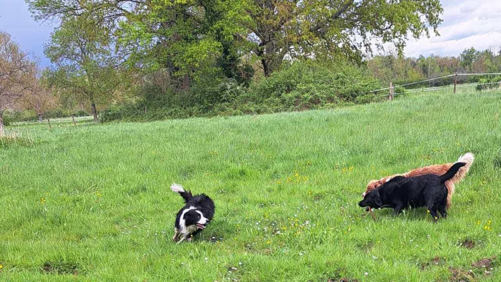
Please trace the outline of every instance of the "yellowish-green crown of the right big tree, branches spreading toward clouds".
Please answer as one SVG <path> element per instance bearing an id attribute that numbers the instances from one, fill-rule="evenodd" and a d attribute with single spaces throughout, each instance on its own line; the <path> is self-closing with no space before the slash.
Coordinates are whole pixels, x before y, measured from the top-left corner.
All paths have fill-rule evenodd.
<path id="1" fill-rule="evenodd" d="M 359 62 L 373 45 L 401 52 L 409 36 L 437 33 L 439 0 L 254 0 L 249 40 L 265 75 L 286 56 L 342 56 Z"/>

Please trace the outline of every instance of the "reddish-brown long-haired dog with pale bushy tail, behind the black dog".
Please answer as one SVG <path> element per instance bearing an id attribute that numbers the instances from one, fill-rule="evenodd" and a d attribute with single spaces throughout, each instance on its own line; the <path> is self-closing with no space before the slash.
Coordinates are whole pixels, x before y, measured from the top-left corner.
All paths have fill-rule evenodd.
<path id="1" fill-rule="evenodd" d="M 466 153 L 466 154 L 462 155 L 461 157 L 459 157 L 459 159 L 457 159 L 456 163 L 459 163 L 459 162 L 466 163 L 466 165 L 464 167 L 460 168 L 459 171 L 451 179 L 449 179 L 445 182 L 445 187 L 447 188 L 447 208 L 449 208 L 450 205 L 452 204 L 452 195 L 454 194 L 454 184 L 458 183 L 466 176 L 466 173 L 468 173 L 468 170 L 471 167 L 471 165 L 473 164 L 474 159 L 475 158 L 473 157 L 473 154 L 471 154 L 471 153 Z M 392 175 L 392 176 L 387 176 L 387 177 L 381 178 L 380 180 L 371 180 L 367 184 L 367 190 L 364 193 L 362 193 L 362 197 L 364 197 L 367 193 L 378 188 L 383 183 L 389 181 L 390 179 L 392 179 L 395 176 L 414 177 L 414 176 L 419 176 L 419 175 L 424 175 L 424 174 L 443 175 L 450 169 L 450 167 L 452 167 L 452 165 L 454 165 L 454 163 L 447 163 L 447 164 L 443 164 L 443 165 L 431 165 L 431 166 L 411 170 L 410 172 L 407 172 L 404 174 L 396 174 L 396 175 Z"/>

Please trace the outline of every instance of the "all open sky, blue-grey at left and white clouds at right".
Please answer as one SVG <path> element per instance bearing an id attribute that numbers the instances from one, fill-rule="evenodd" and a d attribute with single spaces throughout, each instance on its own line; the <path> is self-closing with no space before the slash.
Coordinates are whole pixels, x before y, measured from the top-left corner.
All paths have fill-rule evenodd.
<path id="1" fill-rule="evenodd" d="M 469 47 L 486 49 L 501 46 L 501 0 L 441 0 L 444 8 L 439 37 L 410 39 L 407 56 L 457 56 Z M 40 57 L 44 65 L 44 42 L 52 27 L 36 23 L 24 0 L 0 0 L 0 30 L 10 33 L 21 47 Z"/>

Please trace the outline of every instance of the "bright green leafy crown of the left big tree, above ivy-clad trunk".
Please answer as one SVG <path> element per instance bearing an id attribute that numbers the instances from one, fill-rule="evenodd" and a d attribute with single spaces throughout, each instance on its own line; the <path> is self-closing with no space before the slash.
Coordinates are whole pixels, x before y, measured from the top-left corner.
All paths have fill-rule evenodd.
<path id="1" fill-rule="evenodd" d="M 167 71 L 172 84 L 187 89 L 198 77 L 222 70 L 242 80 L 242 44 L 249 21 L 240 0 L 27 0 L 39 21 L 101 15 L 114 47 L 127 63 Z M 244 36 L 243 36 L 244 37 Z M 248 49 L 248 48 L 247 48 Z M 248 70 L 247 70 L 248 71 Z"/>

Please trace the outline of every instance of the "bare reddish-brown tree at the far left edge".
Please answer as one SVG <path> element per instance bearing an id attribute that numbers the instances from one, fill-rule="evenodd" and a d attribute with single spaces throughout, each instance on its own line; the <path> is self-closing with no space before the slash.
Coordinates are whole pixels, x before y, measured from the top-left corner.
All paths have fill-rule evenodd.
<path id="1" fill-rule="evenodd" d="M 0 135 L 4 134 L 4 111 L 31 87 L 31 67 L 28 55 L 8 33 L 0 31 Z"/>

